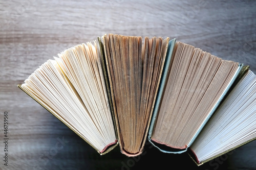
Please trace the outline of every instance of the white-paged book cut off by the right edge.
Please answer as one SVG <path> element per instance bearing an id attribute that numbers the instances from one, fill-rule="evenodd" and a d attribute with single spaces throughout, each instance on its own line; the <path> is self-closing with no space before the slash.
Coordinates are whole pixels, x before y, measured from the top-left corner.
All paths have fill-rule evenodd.
<path id="1" fill-rule="evenodd" d="M 256 138 L 256 76 L 249 70 L 228 93 L 196 141 L 191 156 L 198 165 Z"/>

